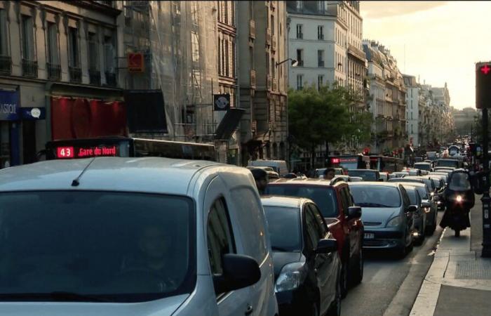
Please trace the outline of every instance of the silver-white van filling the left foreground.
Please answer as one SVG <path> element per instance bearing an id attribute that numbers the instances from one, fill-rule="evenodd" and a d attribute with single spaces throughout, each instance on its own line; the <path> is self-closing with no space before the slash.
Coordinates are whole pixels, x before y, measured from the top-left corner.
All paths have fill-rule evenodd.
<path id="1" fill-rule="evenodd" d="M 0 315 L 274 316 L 245 168 L 159 157 L 0 171 Z"/>

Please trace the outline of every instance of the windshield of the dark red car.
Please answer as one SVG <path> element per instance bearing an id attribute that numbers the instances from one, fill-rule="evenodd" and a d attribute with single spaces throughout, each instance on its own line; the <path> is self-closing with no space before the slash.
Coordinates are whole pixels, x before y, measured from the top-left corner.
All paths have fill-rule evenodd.
<path id="1" fill-rule="evenodd" d="M 268 185 L 267 195 L 306 197 L 314 201 L 324 217 L 337 217 L 336 192 L 332 187 L 314 185 Z"/>

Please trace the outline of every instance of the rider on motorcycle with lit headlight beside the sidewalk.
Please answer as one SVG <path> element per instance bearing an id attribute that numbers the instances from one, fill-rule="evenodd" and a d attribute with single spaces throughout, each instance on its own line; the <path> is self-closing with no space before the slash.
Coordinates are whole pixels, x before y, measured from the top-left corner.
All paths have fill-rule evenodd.
<path id="1" fill-rule="evenodd" d="M 456 169 L 450 173 L 448 186 L 443 192 L 445 200 L 445 213 L 440 221 L 440 227 L 450 226 L 455 230 L 455 236 L 460 235 L 460 230 L 471 227 L 469 212 L 474 206 L 474 192 L 471 185 L 469 172 L 464 169 Z"/>

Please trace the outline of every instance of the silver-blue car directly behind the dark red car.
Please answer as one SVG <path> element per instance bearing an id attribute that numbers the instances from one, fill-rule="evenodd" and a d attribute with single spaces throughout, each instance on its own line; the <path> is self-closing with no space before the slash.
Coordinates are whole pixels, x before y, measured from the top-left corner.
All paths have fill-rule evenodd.
<path id="1" fill-rule="evenodd" d="M 355 204 L 361 206 L 365 225 L 363 248 L 387 249 L 404 257 L 412 251 L 414 213 L 408 193 L 401 183 L 349 183 Z"/>

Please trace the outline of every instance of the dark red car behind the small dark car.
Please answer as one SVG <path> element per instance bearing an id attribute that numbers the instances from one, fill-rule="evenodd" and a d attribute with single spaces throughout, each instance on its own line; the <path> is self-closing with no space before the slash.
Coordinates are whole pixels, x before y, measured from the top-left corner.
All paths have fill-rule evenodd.
<path id="1" fill-rule="evenodd" d="M 341 290 L 342 296 L 346 296 L 349 284 L 358 284 L 363 279 L 361 208 L 354 206 L 348 184 L 340 179 L 280 179 L 269 183 L 265 193 L 306 197 L 317 204 L 338 242 L 342 261 Z"/>

